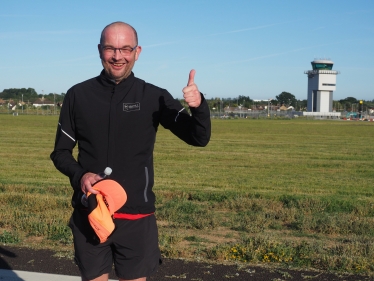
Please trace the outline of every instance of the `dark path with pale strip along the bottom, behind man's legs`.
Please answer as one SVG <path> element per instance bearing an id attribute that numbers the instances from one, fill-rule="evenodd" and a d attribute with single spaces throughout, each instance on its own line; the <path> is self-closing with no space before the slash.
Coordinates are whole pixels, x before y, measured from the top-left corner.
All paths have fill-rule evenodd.
<path id="1" fill-rule="evenodd" d="M 57 257 L 51 250 L 35 250 L 0 245 L 0 281 L 80 281 L 79 270 L 71 259 Z M 117 280 L 114 272 L 111 280 Z M 374 277 L 254 265 L 235 266 L 164 259 L 147 281 L 374 281 Z"/>

